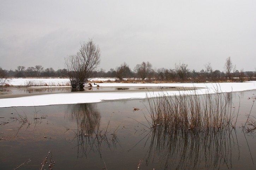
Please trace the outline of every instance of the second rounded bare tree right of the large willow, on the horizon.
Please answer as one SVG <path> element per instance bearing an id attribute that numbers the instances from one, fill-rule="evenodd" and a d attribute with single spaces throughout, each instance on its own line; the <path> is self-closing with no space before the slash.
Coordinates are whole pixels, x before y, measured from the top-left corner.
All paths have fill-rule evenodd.
<path id="1" fill-rule="evenodd" d="M 134 68 L 134 71 L 137 73 L 138 77 L 140 77 L 142 80 L 147 78 L 148 74 L 152 70 L 152 64 L 144 61 L 141 64 L 137 64 Z"/>

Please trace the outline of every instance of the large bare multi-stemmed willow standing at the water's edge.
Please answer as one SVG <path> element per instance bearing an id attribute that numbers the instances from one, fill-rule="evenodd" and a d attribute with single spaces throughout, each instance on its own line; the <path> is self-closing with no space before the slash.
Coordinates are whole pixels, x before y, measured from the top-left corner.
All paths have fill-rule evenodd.
<path id="1" fill-rule="evenodd" d="M 83 89 L 84 84 L 88 82 L 91 74 L 100 64 L 101 51 L 92 39 L 80 44 L 81 47 L 77 54 L 65 58 L 65 64 L 72 88 Z"/>

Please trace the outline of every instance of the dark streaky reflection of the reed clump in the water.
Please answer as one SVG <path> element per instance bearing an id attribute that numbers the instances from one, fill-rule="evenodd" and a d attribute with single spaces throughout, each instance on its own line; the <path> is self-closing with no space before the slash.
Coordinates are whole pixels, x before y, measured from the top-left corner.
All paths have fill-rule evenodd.
<path id="1" fill-rule="evenodd" d="M 234 137 L 234 136 L 235 137 Z M 234 140 L 234 138 L 236 138 Z M 227 130 L 201 133 L 166 133 L 155 126 L 147 152 L 147 165 L 160 161 L 164 169 L 220 169 L 232 168 L 232 150 L 239 159 L 236 131 Z"/>

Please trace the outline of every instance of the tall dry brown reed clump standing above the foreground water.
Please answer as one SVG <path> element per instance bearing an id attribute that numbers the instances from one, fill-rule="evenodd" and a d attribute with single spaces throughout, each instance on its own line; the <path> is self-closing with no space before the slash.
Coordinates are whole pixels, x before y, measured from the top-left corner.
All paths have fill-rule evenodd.
<path id="1" fill-rule="evenodd" d="M 178 96 L 148 96 L 151 127 L 168 133 L 216 132 L 234 129 L 237 114 L 232 106 L 232 93 L 198 95 L 186 91 Z"/>

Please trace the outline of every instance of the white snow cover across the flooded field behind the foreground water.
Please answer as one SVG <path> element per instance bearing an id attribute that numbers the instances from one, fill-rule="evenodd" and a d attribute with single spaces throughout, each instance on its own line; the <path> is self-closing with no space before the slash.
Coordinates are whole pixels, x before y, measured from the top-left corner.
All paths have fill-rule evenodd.
<path id="1" fill-rule="evenodd" d="M 46 79 L 47 82 L 49 79 Z M 51 79 L 56 83 L 65 82 L 65 79 Z M 26 80 L 25 80 L 26 81 Z M 27 81 L 31 81 L 28 79 Z M 43 81 L 43 80 L 42 80 Z M 12 79 L 13 85 L 22 85 L 24 80 Z M 45 82 L 46 83 L 46 82 Z M 11 83 L 10 83 L 11 84 Z M 196 90 L 197 94 L 216 93 L 216 92 L 235 92 L 245 90 L 255 90 L 256 81 L 247 81 L 244 83 L 164 83 L 164 84 L 128 84 L 128 83 L 97 83 L 100 87 L 202 87 Z M 166 91 L 166 95 L 176 95 L 179 93 L 193 93 L 194 91 Z M 36 96 L 4 98 L 0 99 L 0 107 L 13 106 L 44 106 L 58 104 L 77 104 L 77 103 L 96 103 L 104 100 L 118 99 L 141 99 L 148 96 L 157 96 L 162 92 L 156 90 L 153 92 L 143 91 L 111 91 L 111 92 L 82 92 L 82 93 L 58 93 L 58 94 L 43 94 Z"/>

